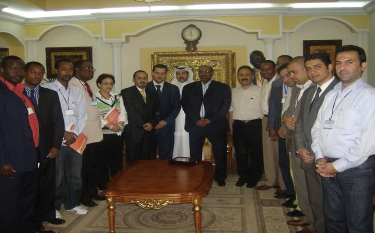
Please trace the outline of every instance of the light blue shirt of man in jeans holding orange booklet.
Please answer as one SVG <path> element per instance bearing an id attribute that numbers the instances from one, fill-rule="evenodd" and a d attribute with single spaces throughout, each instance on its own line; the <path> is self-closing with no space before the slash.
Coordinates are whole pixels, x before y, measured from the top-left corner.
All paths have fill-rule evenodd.
<path id="1" fill-rule="evenodd" d="M 68 128 L 71 124 L 74 124 L 75 127 L 72 132 L 77 135 L 80 134 L 87 122 L 86 102 L 82 91 L 73 85 L 68 85 L 65 90 L 65 87 L 57 80 L 42 86 L 57 92 L 63 111 L 65 127 Z M 73 110 L 74 114 L 67 115 L 66 110 Z"/>

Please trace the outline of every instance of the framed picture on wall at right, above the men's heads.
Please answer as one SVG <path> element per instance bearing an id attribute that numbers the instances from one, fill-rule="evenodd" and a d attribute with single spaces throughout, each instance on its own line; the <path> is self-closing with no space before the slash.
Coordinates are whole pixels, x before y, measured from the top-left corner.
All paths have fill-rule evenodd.
<path id="1" fill-rule="evenodd" d="M 327 53 L 335 66 L 336 51 L 342 46 L 342 40 L 304 40 L 303 56 L 309 56 L 312 53 Z"/>

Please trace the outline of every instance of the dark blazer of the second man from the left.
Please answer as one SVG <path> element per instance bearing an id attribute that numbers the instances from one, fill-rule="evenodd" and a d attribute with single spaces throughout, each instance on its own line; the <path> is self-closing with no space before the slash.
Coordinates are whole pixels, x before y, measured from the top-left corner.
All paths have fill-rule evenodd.
<path id="1" fill-rule="evenodd" d="M 39 86 L 37 115 L 40 127 L 40 162 L 46 161 L 49 150 L 60 150 L 64 136 L 64 118 L 57 92 Z"/>

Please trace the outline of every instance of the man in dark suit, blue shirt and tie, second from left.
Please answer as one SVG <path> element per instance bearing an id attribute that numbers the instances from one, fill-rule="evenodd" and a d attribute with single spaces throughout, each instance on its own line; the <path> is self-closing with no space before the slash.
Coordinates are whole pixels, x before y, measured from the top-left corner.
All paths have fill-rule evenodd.
<path id="1" fill-rule="evenodd" d="M 35 61 L 28 62 L 25 72 L 24 93 L 33 102 L 40 129 L 36 227 L 43 229 L 43 221 L 65 223 L 65 220 L 55 216 L 55 158 L 63 141 L 64 118 L 57 92 L 39 86 L 45 73 L 43 65 Z"/>

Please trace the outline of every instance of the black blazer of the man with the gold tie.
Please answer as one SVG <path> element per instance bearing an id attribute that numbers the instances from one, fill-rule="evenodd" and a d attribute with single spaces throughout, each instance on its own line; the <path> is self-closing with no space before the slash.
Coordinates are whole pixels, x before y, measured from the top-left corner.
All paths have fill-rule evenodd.
<path id="1" fill-rule="evenodd" d="M 133 141 L 139 141 L 144 133 L 145 123 L 151 123 L 154 127 L 160 119 L 159 96 L 155 90 L 145 88 L 147 103 L 144 102 L 141 93 L 136 86 L 125 88 L 121 91 L 127 113 L 128 124 L 126 132 L 129 133 Z"/>

